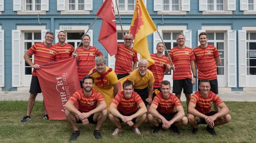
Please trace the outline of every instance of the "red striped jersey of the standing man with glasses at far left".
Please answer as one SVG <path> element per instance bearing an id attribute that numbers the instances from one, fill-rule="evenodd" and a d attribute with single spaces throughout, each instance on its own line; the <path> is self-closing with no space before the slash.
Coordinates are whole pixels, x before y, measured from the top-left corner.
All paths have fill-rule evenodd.
<path id="1" fill-rule="evenodd" d="M 52 45 L 50 47 L 46 47 L 44 42 L 32 45 L 27 52 L 31 55 L 35 54 L 34 64 L 44 65 L 46 63 L 59 60 L 58 49 Z M 32 75 L 37 76 L 35 68 L 33 69 Z"/>

